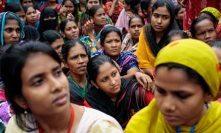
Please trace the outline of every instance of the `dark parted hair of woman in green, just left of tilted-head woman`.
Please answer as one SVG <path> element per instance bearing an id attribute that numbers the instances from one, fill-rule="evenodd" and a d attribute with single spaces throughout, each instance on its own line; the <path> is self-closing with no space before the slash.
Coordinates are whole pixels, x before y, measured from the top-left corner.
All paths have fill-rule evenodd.
<path id="1" fill-rule="evenodd" d="M 90 60 L 90 55 L 91 55 L 91 54 L 90 54 L 89 48 L 86 47 L 86 46 L 84 45 L 84 43 L 80 41 L 80 39 L 75 39 L 75 40 L 69 40 L 69 41 L 67 41 L 67 42 L 62 46 L 61 54 L 62 54 L 63 60 L 64 60 L 65 62 L 67 62 L 67 60 L 68 60 L 68 53 L 69 53 L 70 49 L 71 49 L 72 47 L 75 47 L 77 44 L 81 45 L 81 46 L 84 48 L 84 50 L 85 50 L 85 52 L 86 52 L 86 54 L 87 54 L 87 56 L 88 56 L 88 59 Z"/>

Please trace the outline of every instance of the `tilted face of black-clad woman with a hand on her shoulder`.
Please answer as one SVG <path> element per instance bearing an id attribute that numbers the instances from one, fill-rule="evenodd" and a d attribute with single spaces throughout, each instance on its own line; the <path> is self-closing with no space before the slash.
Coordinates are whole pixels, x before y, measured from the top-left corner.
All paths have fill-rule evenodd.
<path id="1" fill-rule="evenodd" d="M 117 67 L 109 62 L 100 65 L 95 86 L 111 98 L 115 97 L 121 87 L 121 77 Z"/>

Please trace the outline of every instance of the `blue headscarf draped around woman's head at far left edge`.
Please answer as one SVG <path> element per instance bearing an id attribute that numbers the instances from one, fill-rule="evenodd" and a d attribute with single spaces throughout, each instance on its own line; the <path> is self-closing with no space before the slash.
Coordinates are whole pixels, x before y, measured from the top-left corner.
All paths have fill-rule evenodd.
<path id="1" fill-rule="evenodd" d="M 4 41 L 4 30 L 7 19 L 15 19 L 20 27 L 20 40 L 24 38 L 24 24 L 22 20 L 13 12 L 2 12 L 0 13 L 0 43 L 1 46 L 5 45 Z"/>

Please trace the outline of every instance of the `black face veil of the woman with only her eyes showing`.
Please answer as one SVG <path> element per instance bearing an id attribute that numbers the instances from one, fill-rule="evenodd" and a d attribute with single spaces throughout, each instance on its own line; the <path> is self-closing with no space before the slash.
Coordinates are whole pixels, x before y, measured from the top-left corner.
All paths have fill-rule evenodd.
<path id="1" fill-rule="evenodd" d="M 49 17 L 55 17 L 55 20 L 51 20 L 50 22 L 46 23 L 44 19 Z M 42 34 L 46 30 L 56 30 L 57 26 L 58 26 L 58 13 L 56 12 L 56 10 L 50 7 L 46 7 L 41 12 L 39 29 L 38 29 L 39 33 Z"/>

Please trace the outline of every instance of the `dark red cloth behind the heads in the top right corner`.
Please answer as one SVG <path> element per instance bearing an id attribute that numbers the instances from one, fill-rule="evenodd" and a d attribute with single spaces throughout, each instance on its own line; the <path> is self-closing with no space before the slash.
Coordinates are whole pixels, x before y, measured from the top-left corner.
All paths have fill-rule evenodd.
<path id="1" fill-rule="evenodd" d="M 186 14 L 183 19 L 184 30 L 189 30 L 192 20 L 199 15 L 203 8 L 215 7 L 221 10 L 221 0 L 184 0 L 183 5 L 186 6 Z"/>

